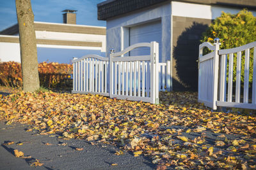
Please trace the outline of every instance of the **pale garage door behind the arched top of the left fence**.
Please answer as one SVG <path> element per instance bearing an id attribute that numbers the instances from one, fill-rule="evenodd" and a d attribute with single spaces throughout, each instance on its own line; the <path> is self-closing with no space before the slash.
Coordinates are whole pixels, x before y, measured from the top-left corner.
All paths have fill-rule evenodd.
<path id="1" fill-rule="evenodd" d="M 130 45 L 134 45 L 136 43 L 150 43 L 150 41 L 157 41 L 157 43 L 159 43 L 159 61 L 161 60 L 161 20 L 131 27 L 129 36 Z M 132 55 L 150 55 L 150 48 L 137 48 L 136 50 L 132 50 L 130 52 L 130 56 Z"/>

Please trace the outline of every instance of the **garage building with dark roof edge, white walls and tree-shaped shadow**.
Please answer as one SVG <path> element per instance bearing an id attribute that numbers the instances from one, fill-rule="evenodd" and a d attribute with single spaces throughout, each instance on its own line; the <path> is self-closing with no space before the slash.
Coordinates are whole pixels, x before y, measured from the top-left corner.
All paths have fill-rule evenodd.
<path id="1" fill-rule="evenodd" d="M 254 0 L 109 0 L 99 3 L 98 19 L 106 20 L 106 55 L 135 43 L 157 41 L 159 62 L 171 61 L 172 90 L 196 90 L 198 45 L 202 32 L 221 11 L 243 8 L 256 16 Z M 129 55 L 147 55 L 147 48 Z"/>

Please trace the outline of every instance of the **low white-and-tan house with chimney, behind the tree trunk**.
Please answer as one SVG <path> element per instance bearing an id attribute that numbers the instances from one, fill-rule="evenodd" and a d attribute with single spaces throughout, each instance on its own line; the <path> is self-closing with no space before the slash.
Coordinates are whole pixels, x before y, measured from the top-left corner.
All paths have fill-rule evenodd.
<path id="1" fill-rule="evenodd" d="M 71 63 L 89 53 L 105 55 L 106 27 L 77 25 L 74 10 L 64 10 L 63 24 L 35 22 L 38 62 Z M 18 24 L 0 31 L 0 62 L 20 62 Z"/>

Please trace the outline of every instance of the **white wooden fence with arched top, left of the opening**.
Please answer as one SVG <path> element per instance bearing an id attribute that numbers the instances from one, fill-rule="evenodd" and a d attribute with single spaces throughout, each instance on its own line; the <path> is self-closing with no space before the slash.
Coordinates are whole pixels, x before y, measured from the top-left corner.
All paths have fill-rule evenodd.
<path id="1" fill-rule="evenodd" d="M 122 57 L 134 48 L 149 47 L 150 55 Z M 171 90 L 170 61 L 158 62 L 158 43 L 138 43 L 108 57 L 73 59 L 72 93 L 159 103 L 159 91 Z"/>

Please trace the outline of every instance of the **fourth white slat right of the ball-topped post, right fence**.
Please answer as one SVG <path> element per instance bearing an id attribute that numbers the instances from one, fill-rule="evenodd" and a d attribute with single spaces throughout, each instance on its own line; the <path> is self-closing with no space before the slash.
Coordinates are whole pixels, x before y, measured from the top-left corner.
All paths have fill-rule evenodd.
<path id="1" fill-rule="evenodd" d="M 245 50 L 244 58 L 244 103 L 248 103 L 249 97 L 249 61 L 250 61 L 250 49 Z"/>

